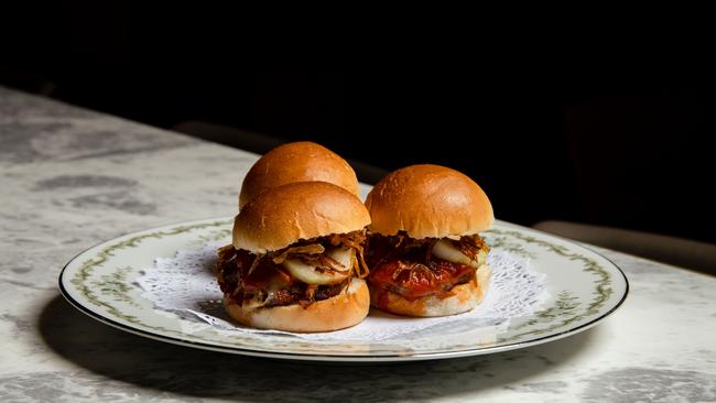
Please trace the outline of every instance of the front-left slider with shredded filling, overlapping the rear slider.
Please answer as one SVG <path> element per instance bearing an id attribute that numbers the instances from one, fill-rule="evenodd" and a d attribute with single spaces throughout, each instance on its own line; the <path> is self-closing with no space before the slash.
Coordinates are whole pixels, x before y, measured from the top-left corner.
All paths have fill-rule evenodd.
<path id="1" fill-rule="evenodd" d="M 243 206 L 232 244 L 218 251 L 224 306 L 242 325 L 328 331 L 370 307 L 362 255 L 368 210 L 324 182 L 271 188 Z"/>

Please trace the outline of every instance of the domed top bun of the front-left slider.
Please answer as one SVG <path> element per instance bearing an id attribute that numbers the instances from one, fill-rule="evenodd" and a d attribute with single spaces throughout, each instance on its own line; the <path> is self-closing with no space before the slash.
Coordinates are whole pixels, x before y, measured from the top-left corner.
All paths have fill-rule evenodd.
<path id="1" fill-rule="evenodd" d="M 300 239 L 364 229 L 370 215 L 358 197 L 325 182 L 297 182 L 267 190 L 234 220 L 234 247 L 265 253 Z"/>

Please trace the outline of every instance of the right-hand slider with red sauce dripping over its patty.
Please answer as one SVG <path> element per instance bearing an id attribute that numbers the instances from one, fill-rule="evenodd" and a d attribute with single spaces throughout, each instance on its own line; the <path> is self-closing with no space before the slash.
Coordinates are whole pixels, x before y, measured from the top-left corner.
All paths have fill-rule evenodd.
<path id="1" fill-rule="evenodd" d="M 371 225 L 367 262 L 375 307 L 444 316 L 475 308 L 489 286 L 492 206 L 466 175 L 437 165 L 390 173 L 366 199 Z"/>

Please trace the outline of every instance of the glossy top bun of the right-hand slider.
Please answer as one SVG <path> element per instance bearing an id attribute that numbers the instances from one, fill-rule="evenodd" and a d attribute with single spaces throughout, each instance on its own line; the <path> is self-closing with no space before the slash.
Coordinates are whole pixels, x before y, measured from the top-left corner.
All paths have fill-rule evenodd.
<path id="1" fill-rule="evenodd" d="M 384 236 L 444 238 L 490 229 L 492 205 L 466 175 L 440 165 L 412 165 L 393 171 L 368 194 L 368 229 Z"/>

